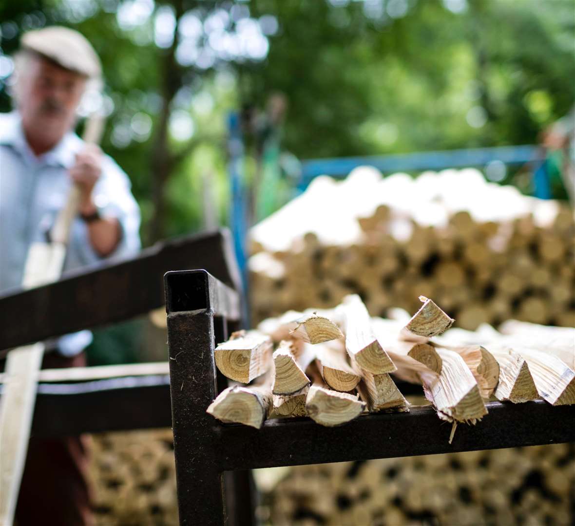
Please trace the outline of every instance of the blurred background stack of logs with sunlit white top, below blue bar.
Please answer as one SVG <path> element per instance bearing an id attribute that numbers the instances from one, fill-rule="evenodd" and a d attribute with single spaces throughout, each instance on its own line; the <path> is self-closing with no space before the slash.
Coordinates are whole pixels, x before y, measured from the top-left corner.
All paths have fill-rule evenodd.
<path id="1" fill-rule="evenodd" d="M 369 312 L 435 298 L 474 330 L 509 318 L 575 325 L 575 221 L 567 204 L 487 183 L 477 170 L 316 178 L 251 232 L 254 323 L 359 294 Z"/>

